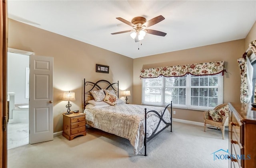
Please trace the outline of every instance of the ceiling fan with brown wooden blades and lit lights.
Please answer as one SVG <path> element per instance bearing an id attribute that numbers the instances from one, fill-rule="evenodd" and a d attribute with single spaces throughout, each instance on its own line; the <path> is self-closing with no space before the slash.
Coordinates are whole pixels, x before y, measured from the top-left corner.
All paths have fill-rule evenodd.
<path id="1" fill-rule="evenodd" d="M 164 20 L 165 18 L 160 15 L 157 16 L 151 20 L 146 20 L 146 18 L 143 17 L 135 17 L 132 19 L 132 22 L 124 20 L 123 18 L 116 18 L 130 26 L 132 26 L 133 30 L 126 30 L 126 31 L 119 31 L 116 33 L 111 33 L 111 34 L 120 34 L 120 33 L 127 33 L 131 32 L 130 36 L 135 40 L 135 42 L 139 42 L 140 40 L 144 39 L 144 36 L 146 33 L 153 34 L 153 35 L 160 35 L 160 36 L 165 36 L 166 33 L 162 31 L 157 31 L 157 30 L 152 30 L 152 29 L 147 29 L 148 27 L 159 23 L 160 21 Z"/>

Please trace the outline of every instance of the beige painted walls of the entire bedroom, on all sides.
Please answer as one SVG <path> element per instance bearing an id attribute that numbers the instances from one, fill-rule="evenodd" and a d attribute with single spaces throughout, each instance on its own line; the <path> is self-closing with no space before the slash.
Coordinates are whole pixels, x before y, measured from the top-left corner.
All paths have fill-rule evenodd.
<path id="1" fill-rule="evenodd" d="M 131 90 L 129 102 L 141 104 L 140 69 L 180 64 L 225 61 L 224 103 L 240 101 L 240 71 L 237 59 L 256 39 L 256 23 L 246 39 L 196 47 L 138 59 L 131 59 L 93 45 L 64 37 L 49 31 L 9 19 L 8 47 L 54 57 L 54 132 L 62 131 L 62 113 L 66 102 L 61 101 L 63 91 L 76 92 L 72 110 L 82 111 L 82 80 L 106 79 L 120 82 L 120 90 Z M 170 44 L 171 45 L 171 44 Z M 110 73 L 95 72 L 95 64 L 110 66 Z M 124 97 L 120 96 L 122 100 Z M 202 111 L 174 109 L 174 118 L 203 122 Z"/>

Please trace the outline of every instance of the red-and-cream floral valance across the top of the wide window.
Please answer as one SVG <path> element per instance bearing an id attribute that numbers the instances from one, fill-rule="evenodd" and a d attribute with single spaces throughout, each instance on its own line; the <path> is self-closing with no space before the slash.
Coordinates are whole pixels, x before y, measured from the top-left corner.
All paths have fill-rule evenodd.
<path id="1" fill-rule="evenodd" d="M 224 61 L 166 66 L 160 68 L 142 69 L 140 71 L 141 78 L 157 78 L 158 76 L 174 77 L 184 76 L 186 74 L 192 75 L 212 75 L 219 74 L 226 71 L 224 68 Z"/>

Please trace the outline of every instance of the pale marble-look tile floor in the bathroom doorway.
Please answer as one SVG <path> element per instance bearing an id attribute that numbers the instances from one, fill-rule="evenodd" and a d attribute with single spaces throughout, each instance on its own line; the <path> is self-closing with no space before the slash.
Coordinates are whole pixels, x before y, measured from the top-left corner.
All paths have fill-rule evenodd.
<path id="1" fill-rule="evenodd" d="M 8 123 L 7 149 L 29 143 L 29 123 Z"/>

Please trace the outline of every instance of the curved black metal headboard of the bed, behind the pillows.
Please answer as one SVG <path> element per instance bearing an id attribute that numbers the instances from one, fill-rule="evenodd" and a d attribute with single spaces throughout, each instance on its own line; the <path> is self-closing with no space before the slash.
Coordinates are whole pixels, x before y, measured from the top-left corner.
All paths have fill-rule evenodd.
<path id="1" fill-rule="evenodd" d="M 97 82 L 86 82 L 84 78 L 84 109 L 87 104 L 86 96 L 92 97 L 91 90 L 100 90 L 100 89 L 112 89 L 117 93 L 117 97 L 119 98 L 119 81 L 117 83 L 110 83 L 107 80 L 98 80 Z M 88 87 L 89 86 L 89 87 Z M 117 86 L 114 88 L 113 86 Z M 87 87 L 87 88 L 86 88 Z"/>

